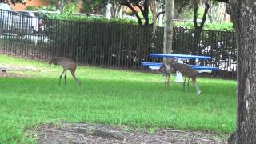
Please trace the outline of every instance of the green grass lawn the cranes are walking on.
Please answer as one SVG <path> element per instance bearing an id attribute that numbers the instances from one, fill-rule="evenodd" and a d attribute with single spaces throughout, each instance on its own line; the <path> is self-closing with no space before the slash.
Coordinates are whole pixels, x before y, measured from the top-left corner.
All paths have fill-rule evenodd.
<path id="1" fill-rule="evenodd" d="M 12 71 L 30 78 L 0 77 L 0 143 L 30 142 L 27 129 L 43 123 L 99 122 L 134 127 L 207 130 L 231 133 L 236 127 L 236 81 L 198 78 L 194 86 L 170 83 L 161 74 L 78 66 L 78 87 L 67 74 L 58 86 L 60 66 L 0 55 L 3 65 L 33 66 Z M 172 80 L 174 78 L 171 78 Z"/>

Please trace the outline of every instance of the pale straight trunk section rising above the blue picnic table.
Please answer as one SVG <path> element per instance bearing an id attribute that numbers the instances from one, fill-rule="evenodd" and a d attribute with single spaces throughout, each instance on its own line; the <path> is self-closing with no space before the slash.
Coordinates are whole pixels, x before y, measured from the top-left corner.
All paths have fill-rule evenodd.
<path id="1" fill-rule="evenodd" d="M 164 27 L 163 53 L 170 54 L 173 52 L 173 18 L 174 18 L 174 0 L 166 0 L 166 16 Z"/>

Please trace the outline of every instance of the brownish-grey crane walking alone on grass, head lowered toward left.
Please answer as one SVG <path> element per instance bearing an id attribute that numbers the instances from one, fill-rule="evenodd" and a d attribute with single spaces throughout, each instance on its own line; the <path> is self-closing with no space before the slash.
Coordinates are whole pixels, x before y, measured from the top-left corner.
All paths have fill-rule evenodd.
<path id="1" fill-rule="evenodd" d="M 59 82 L 58 85 L 61 85 L 61 79 L 62 75 L 64 74 L 64 79 L 65 79 L 65 85 L 66 85 L 66 71 L 70 70 L 74 80 L 77 82 L 78 86 L 81 86 L 81 82 L 78 80 L 78 78 L 75 77 L 74 73 L 75 70 L 77 69 L 77 63 L 74 62 L 74 60 L 70 58 L 65 58 L 65 57 L 57 57 L 57 58 L 52 58 L 49 62 L 49 64 L 54 64 L 54 65 L 60 65 L 63 68 L 62 74 L 59 77 Z"/>

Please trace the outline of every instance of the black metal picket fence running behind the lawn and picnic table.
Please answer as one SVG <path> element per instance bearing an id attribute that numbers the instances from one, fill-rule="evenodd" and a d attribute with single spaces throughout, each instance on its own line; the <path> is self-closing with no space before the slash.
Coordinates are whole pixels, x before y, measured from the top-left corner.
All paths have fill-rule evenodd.
<path id="1" fill-rule="evenodd" d="M 162 53 L 163 29 L 152 26 L 75 22 L 30 17 L 0 10 L 0 50 L 40 59 L 64 56 L 80 64 L 147 70 L 141 62 L 160 62 L 150 53 Z M 209 76 L 236 77 L 234 33 L 203 31 L 193 46 L 194 30 L 174 28 L 174 53 L 211 56 L 198 65 L 217 66 Z"/>

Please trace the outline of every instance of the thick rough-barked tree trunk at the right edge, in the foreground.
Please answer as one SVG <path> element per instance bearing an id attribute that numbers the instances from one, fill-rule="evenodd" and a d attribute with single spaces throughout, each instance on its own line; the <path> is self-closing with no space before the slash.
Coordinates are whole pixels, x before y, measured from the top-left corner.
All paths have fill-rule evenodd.
<path id="1" fill-rule="evenodd" d="M 256 142 L 256 10 L 254 0 L 232 0 L 238 47 L 238 121 L 230 143 Z"/>

